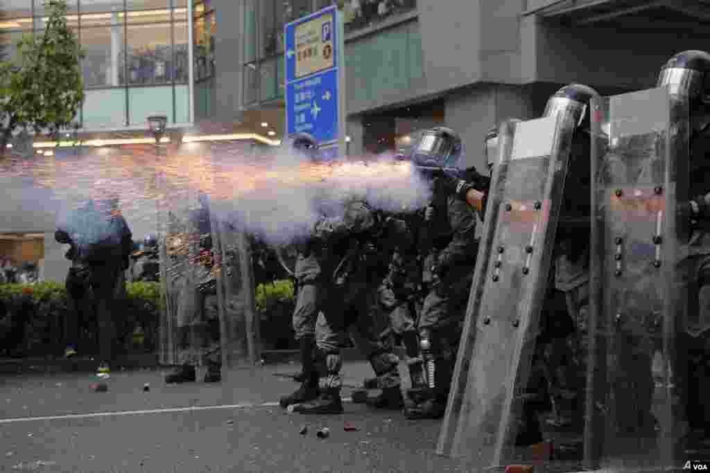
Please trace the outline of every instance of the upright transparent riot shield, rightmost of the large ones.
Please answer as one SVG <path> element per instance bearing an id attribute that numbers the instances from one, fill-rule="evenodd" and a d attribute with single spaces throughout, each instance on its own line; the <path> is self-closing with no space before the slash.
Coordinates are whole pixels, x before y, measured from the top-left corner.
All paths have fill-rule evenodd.
<path id="1" fill-rule="evenodd" d="M 592 106 L 594 406 L 587 413 L 596 422 L 588 463 L 630 472 L 679 468 L 671 366 L 688 300 L 688 225 L 678 207 L 687 201 L 688 108 L 662 88 L 598 97 Z"/>

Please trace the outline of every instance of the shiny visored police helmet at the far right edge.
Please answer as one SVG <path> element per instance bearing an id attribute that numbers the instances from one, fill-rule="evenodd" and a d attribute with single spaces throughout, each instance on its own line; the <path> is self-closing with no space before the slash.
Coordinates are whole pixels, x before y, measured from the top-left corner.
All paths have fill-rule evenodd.
<path id="1" fill-rule="evenodd" d="M 705 51 L 679 52 L 663 65 L 656 87 L 686 96 L 691 102 L 710 103 L 710 54 Z"/>

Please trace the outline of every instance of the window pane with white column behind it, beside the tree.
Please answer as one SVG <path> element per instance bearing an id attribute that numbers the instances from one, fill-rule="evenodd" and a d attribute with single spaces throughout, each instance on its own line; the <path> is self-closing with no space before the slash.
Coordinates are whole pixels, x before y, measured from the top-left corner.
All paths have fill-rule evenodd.
<path id="1" fill-rule="evenodd" d="M 82 62 L 85 87 L 125 84 L 124 27 L 82 28 Z"/>

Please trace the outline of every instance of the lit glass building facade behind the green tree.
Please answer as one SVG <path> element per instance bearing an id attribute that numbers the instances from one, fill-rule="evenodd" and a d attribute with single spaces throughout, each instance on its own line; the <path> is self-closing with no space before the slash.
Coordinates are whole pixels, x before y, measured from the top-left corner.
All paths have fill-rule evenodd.
<path id="1" fill-rule="evenodd" d="M 190 122 L 187 1 L 67 1 L 67 23 L 85 52 L 82 128 L 143 127 L 155 113 Z M 24 33 L 41 33 L 46 14 L 43 0 L 2 1 L 0 55 L 10 59 Z"/>

